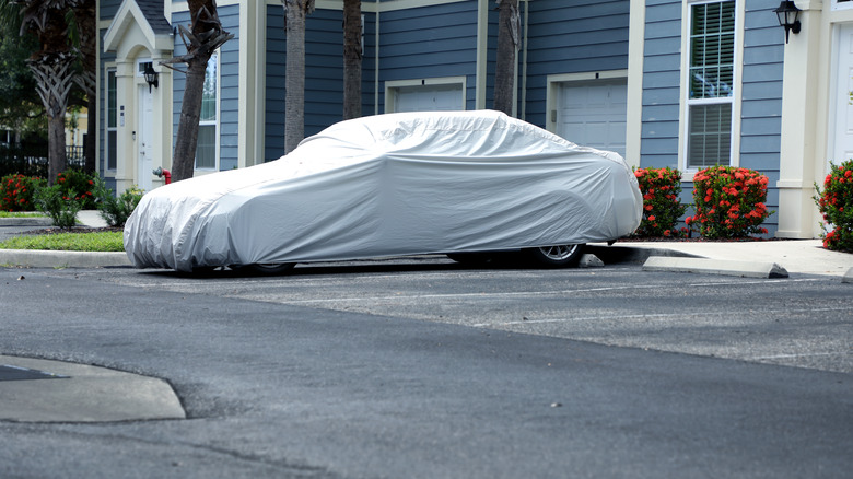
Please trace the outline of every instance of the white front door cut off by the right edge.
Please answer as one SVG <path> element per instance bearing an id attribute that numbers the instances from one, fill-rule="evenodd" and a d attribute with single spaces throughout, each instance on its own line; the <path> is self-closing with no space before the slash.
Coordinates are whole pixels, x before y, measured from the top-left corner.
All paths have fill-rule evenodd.
<path id="1" fill-rule="evenodd" d="M 853 159 L 853 25 L 839 27 L 836 56 L 838 73 L 836 89 L 830 96 L 836 115 L 833 144 L 830 145 L 830 157 L 836 164 Z M 827 171 L 829 165 L 827 164 Z"/>

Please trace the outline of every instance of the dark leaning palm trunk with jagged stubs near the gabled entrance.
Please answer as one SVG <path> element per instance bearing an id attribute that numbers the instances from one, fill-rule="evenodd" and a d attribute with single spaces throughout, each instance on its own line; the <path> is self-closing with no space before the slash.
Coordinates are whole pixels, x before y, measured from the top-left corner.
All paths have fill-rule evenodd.
<path id="1" fill-rule="evenodd" d="M 187 63 L 185 72 L 187 81 L 184 89 L 184 101 L 180 105 L 175 154 L 172 159 L 172 179 L 174 182 L 192 177 L 208 60 L 217 48 L 234 37 L 222 28 L 222 22 L 217 13 L 215 0 L 189 0 L 187 4 L 191 19 L 190 30 L 184 25 L 179 26 L 180 37 L 187 52 L 166 61 L 166 63 Z"/>

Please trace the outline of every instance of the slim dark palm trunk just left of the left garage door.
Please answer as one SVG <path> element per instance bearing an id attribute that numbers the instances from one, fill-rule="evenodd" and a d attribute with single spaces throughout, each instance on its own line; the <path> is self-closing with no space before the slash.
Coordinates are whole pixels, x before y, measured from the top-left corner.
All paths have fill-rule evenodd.
<path id="1" fill-rule="evenodd" d="M 361 116 L 361 0 L 343 0 L 343 119 Z"/>

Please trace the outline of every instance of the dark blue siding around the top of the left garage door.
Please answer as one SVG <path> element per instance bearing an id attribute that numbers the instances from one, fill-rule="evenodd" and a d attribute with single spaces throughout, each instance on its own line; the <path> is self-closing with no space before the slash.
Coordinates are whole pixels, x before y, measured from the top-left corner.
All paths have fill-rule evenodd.
<path id="1" fill-rule="evenodd" d="M 467 1 L 379 15 L 379 97 L 376 100 L 381 113 L 385 112 L 385 82 L 437 77 L 467 77 L 466 108 L 474 108 L 477 12 L 477 2 Z M 375 46 L 370 52 L 375 57 Z"/>

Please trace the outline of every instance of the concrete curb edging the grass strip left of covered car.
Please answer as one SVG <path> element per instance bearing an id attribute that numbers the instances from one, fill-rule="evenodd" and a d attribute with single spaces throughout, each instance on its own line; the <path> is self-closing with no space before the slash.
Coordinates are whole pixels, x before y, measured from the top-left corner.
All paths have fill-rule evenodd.
<path id="1" fill-rule="evenodd" d="M 43 249 L 0 249 L 0 265 L 27 268 L 105 268 L 131 266 L 124 252 L 47 252 Z"/>

